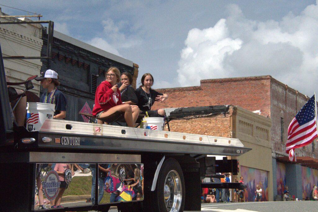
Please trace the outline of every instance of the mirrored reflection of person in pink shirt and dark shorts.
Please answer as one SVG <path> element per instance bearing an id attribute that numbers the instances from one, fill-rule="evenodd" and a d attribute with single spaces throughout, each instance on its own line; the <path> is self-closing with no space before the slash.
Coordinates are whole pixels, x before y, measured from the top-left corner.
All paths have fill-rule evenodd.
<path id="1" fill-rule="evenodd" d="M 54 171 L 56 171 L 59 174 L 59 181 L 61 184 L 59 188 L 59 194 L 55 198 L 54 205 L 52 205 L 51 208 L 64 208 L 61 205 L 61 199 L 65 189 L 68 187 L 68 184 L 65 182 L 65 179 L 64 179 L 64 174 L 66 169 L 72 170 L 72 176 L 75 174 L 73 170 L 73 164 L 57 163 L 54 167 Z"/>

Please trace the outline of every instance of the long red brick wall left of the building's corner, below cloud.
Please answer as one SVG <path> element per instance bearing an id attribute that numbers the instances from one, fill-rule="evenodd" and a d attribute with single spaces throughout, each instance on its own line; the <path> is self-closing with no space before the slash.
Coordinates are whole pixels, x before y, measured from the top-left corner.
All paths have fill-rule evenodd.
<path id="1" fill-rule="evenodd" d="M 249 111 L 260 109 L 261 115 L 267 117 L 270 116 L 270 79 L 270 76 L 205 79 L 200 86 L 157 89 L 169 98 L 153 108 L 237 105 Z"/>

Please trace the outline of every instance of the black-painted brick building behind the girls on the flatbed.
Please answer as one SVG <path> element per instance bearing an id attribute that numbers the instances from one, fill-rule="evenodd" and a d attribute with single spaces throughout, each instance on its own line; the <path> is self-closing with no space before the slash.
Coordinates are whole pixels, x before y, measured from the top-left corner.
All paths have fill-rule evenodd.
<path id="1" fill-rule="evenodd" d="M 43 31 L 41 55 L 46 54 L 47 34 Z M 105 71 L 115 66 L 121 72 L 134 75 L 134 68 L 101 55 L 87 51 L 79 46 L 67 43 L 58 38 L 53 39 L 52 59 L 42 59 L 41 72 L 52 69 L 58 72 L 61 85 L 58 87 L 67 99 L 66 120 L 83 121 L 78 115 L 87 101 L 93 109 L 96 86 L 105 80 Z M 45 92 L 40 89 L 40 94 Z"/>

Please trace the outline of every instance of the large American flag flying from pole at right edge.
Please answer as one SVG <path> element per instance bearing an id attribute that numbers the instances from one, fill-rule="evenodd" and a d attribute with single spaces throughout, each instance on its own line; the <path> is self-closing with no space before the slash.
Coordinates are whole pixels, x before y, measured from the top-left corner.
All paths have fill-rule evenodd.
<path id="1" fill-rule="evenodd" d="M 286 153 L 291 161 L 296 161 L 295 148 L 306 146 L 318 137 L 315 107 L 314 95 L 289 124 Z"/>

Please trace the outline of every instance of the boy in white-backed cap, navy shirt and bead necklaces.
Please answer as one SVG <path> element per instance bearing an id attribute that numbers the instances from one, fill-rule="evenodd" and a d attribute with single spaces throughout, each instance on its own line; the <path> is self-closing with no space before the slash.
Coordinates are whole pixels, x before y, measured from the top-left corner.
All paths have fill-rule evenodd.
<path id="1" fill-rule="evenodd" d="M 59 76 L 55 71 L 48 69 L 45 73 L 41 73 L 40 77 L 35 78 L 41 81 L 43 88 L 47 92 L 43 93 L 40 101 L 42 103 L 55 104 L 54 119 L 65 119 L 66 117 L 66 98 L 64 94 L 57 89 L 59 86 Z"/>

